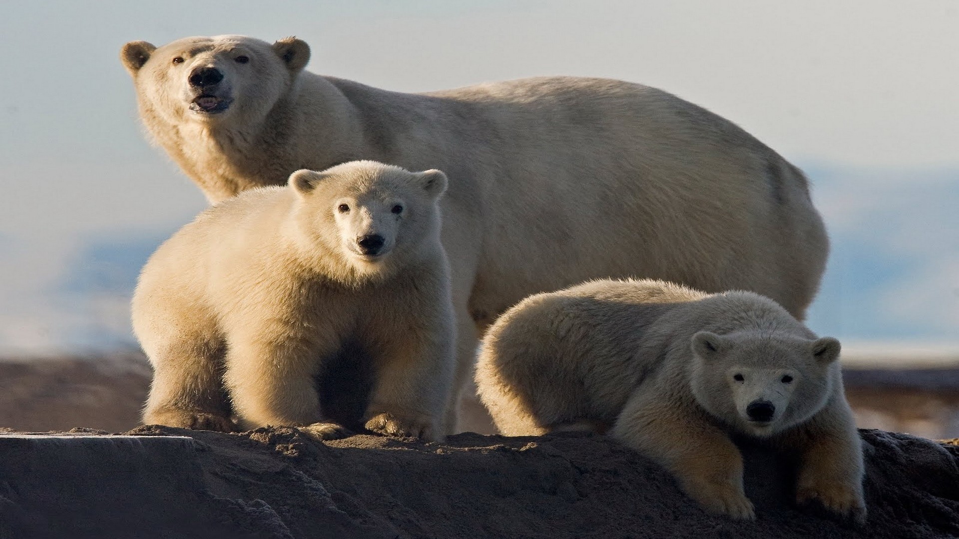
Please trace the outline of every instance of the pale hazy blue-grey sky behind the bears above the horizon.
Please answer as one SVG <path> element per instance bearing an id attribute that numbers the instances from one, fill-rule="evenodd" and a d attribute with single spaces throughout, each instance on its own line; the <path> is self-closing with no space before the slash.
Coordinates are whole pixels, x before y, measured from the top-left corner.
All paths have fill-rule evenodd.
<path id="1" fill-rule="evenodd" d="M 957 28 L 954 0 L 4 2 L 0 353 L 129 339 L 139 253 L 205 202 L 142 136 L 118 52 L 217 34 L 297 35 L 308 69 L 402 91 L 667 89 L 812 176 L 838 249 L 814 329 L 959 340 Z"/>

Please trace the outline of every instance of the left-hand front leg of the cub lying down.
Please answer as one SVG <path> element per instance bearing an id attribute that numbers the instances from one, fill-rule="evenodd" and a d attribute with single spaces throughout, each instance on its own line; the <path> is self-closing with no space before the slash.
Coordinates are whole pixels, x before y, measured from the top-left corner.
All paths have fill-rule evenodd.
<path id="1" fill-rule="evenodd" d="M 693 403 L 641 391 L 626 402 L 610 434 L 666 468 L 707 510 L 755 519 L 742 485 L 742 456 L 729 436 L 691 408 Z"/>

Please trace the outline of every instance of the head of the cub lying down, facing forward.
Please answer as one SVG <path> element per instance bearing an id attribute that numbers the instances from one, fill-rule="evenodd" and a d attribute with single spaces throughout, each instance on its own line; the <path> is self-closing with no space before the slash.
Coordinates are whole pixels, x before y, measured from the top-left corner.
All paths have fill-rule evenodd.
<path id="1" fill-rule="evenodd" d="M 696 401 L 738 432 L 777 434 L 822 410 L 839 382 L 839 341 L 775 331 L 692 336 Z"/>

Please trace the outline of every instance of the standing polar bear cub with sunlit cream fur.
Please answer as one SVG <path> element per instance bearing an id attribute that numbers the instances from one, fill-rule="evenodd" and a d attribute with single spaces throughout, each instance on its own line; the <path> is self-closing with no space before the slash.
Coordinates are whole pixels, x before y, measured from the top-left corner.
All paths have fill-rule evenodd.
<path id="1" fill-rule="evenodd" d="M 349 395 L 368 380 L 367 429 L 441 437 L 455 340 L 446 182 L 370 161 L 301 170 L 184 226 L 133 297 L 154 368 L 144 421 L 229 431 L 235 414 L 336 437 L 350 410 L 317 387 Z M 330 380 L 341 373 L 356 379 Z"/>

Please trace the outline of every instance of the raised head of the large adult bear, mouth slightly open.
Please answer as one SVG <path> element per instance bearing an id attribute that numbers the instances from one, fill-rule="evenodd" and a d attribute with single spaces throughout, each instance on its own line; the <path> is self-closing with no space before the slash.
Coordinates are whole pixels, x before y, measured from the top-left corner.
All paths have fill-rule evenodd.
<path id="1" fill-rule="evenodd" d="M 289 92 L 310 59 L 310 47 L 294 37 L 270 45 L 244 35 L 216 35 L 158 48 L 130 41 L 120 59 L 148 123 L 255 122 Z"/>

